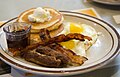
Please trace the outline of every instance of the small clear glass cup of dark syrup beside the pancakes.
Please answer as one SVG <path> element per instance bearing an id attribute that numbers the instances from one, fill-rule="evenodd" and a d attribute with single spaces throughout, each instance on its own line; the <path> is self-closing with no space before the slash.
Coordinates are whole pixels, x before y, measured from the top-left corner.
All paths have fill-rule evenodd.
<path id="1" fill-rule="evenodd" d="M 31 25 L 24 22 L 13 22 L 3 27 L 8 48 L 21 50 L 30 44 Z"/>

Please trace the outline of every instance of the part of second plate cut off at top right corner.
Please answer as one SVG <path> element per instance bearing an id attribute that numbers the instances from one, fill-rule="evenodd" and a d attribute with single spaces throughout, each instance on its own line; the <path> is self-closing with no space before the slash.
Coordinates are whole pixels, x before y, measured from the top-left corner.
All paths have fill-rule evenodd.
<path id="1" fill-rule="evenodd" d="M 107 5 L 120 5 L 120 0 L 92 0 L 92 1 Z"/>

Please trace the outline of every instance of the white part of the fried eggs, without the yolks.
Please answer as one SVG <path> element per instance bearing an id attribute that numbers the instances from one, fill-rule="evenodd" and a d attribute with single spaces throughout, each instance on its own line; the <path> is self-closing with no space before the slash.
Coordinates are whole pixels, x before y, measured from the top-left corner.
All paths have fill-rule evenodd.
<path id="1" fill-rule="evenodd" d="M 70 32 L 70 23 L 71 22 L 65 22 L 64 23 L 64 30 L 59 33 L 59 34 L 68 34 L 71 33 Z M 72 51 L 74 51 L 77 55 L 81 55 L 81 56 L 87 56 L 86 51 L 96 42 L 98 35 L 96 30 L 91 27 L 90 25 L 87 24 L 74 24 L 76 26 L 80 26 L 83 31 L 81 32 L 81 34 L 85 35 L 85 36 L 89 36 L 92 38 L 91 41 L 85 40 L 85 41 L 79 41 L 79 40 L 73 40 L 74 41 L 74 47 L 71 49 Z M 65 47 L 63 45 L 63 47 Z"/>

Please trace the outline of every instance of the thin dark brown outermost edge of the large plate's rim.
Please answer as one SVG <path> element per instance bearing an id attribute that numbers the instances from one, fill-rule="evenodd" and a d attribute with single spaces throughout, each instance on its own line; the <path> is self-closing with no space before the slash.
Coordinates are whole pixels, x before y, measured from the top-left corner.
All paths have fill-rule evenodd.
<path id="1" fill-rule="evenodd" d="M 68 12 L 68 13 L 75 13 L 75 14 L 81 14 L 81 15 L 84 15 L 84 16 L 89 16 L 89 15 L 86 15 L 86 14 L 82 14 L 82 13 L 77 13 L 77 12 L 71 12 L 71 11 L 60 11 L 60 12 Z M 89 16 L 89 17 L 92 17 L 92 16 Z M 15 17 L 15 18 L 17 18 L 17 17 Z M 15 18 L 13 18 L 13 19 L 10 19 L 10 20 L 8 20 L 7 22 L 5 22 L 4 24 L 6 24 L 6 23 L 8 23 L 8 22 L 10 22 L 10 21 L 12 21 L 12 20 L 14 20 Z M 101 22 L 103 22 L 103 23 L 105 23 L 105 24 L 107 24 L 107 25 L 109 25 L 110 26 L 110 28 L 112 28 L 112 30 L 115 32 L 115 34 L 117 35 L 117 37 L 118 37 L 118 41 L 120 40 L 120 37 L 119 37 L 119 33 L 116 31 L 116 29 L 112 26 L 112 25 L 110 25 L 109 23 L 107 23 L 107 22 L 105 22 L 104 20 L 102 20 L 102 19 L 99 19 L 99 18 L 96 18 L 96 17 L 92 17 L 92 18 L 94 18 L 94 19 L 97 19 L 97 20 L 99 20 L 99 21 L 101 21 Z M 3 24 L 3 25 L 4 25 Z M 118 43 L 118 46 L 120 46 L 120 43 Z M 116 57 L 117 55 L 118 55 L 118 53 L 120 52 L 120 49 L 118 48 L 117 49 L 118 51 L 116 52 L 116 53 L 114 53 L 113 54 L 113 56 L 111 56 L 112 58 L 114 58 L 114 57 Z M 0 56 L 2 56 L 2 57 L 4 57 L 4 55 L 2 55 L 1 53 L 0 53 Z M 110 57 L 110 59 L 112 59 Z M 109 59 L 109 61 L 110 61 L 110 59 Z M 2 60 L 4 60 L 4 59 L 2 59 Z M 5 61 L 5 60 L 4 60 Z M 6 62 L 6 61 L 5 61 Z M 7 62 L 8 63 L 8 62 Z M 108 63 L 108 61 L 105 61 L 105 62 L 103 62 L 103 63 Z M 9 64 L 9 63 L 8 63 Z M 97 68 L 99 68 L 99 67 L 101 67 L 101 66 L 103 66 L 104 64 L 102 64 L 102 65 L 96 65 L 96 66 L 93 66 L 94 67 L 94 69 L 96 69 L 96 67 Z M 13 64 L 13 66 L 14 66 L 14 64 Z M 21 69 L 21 70 L 24 70 L 24 71 L 28 71 L 28 70 L 30 70 L 30 69 L 27 69 L 26 67 L 24 68 L 24 67 L 19 67 L 19 66 L 15 66 L 16 68 L 19 68 L 19 69 Z M 92 68 L 92 70 L 94 70 L 93 69 L 93 67 L 89 67 L 89 68 L 87 68 L 87 69 L 90 69 L 90 68 Z M 24 69 L 23 69 L 24 68 Z M 85 70 L 85 69 L 82 69 L 82 70 Z M 33 70 L 31 70 L 31 71 L 33 71 Z M 34 69 L 34 71 L 35 71 L 35 69 Z M 37 70 L 36 69 L 36 71 L 39 71 L 40 72 L 40 70 Z M 80 69 L 79 70 L 72 70 L 72 71 L 43 71 L 43 70 L 41 70 L 42 72 L 47 72 L 48 74 L 52 74 L 52 73 L 54 73 L 55 75 L 60 75 L 60 74 L 63 74 L 64 73 L 64 75 L 67 75 L 67 73 L 69 72 L 69 73 L 77 73 L 77 72 L 79 72 L 80 71 Z M 90 70 L 88 70 L 88 71 L 90 71 Z M 84 72 L 83 72 L 84 73 Z M 42 73 L 41 73 L 42 74 Z M 53 75 L 53 74 L 52 74 Z"/>

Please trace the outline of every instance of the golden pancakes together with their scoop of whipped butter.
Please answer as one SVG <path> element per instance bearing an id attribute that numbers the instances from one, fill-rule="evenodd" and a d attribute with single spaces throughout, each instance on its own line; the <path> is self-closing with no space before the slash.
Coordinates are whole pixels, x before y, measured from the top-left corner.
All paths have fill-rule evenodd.
<path id="1" fill-rule="evenodd" d="M 62 30 L 63 15 L 50 7 L 32 8 L 21 13 L 18 22 L 32 24 L 31 32 L 39 32 L 39 29 L 47 28 L 49 31 Z"/>

